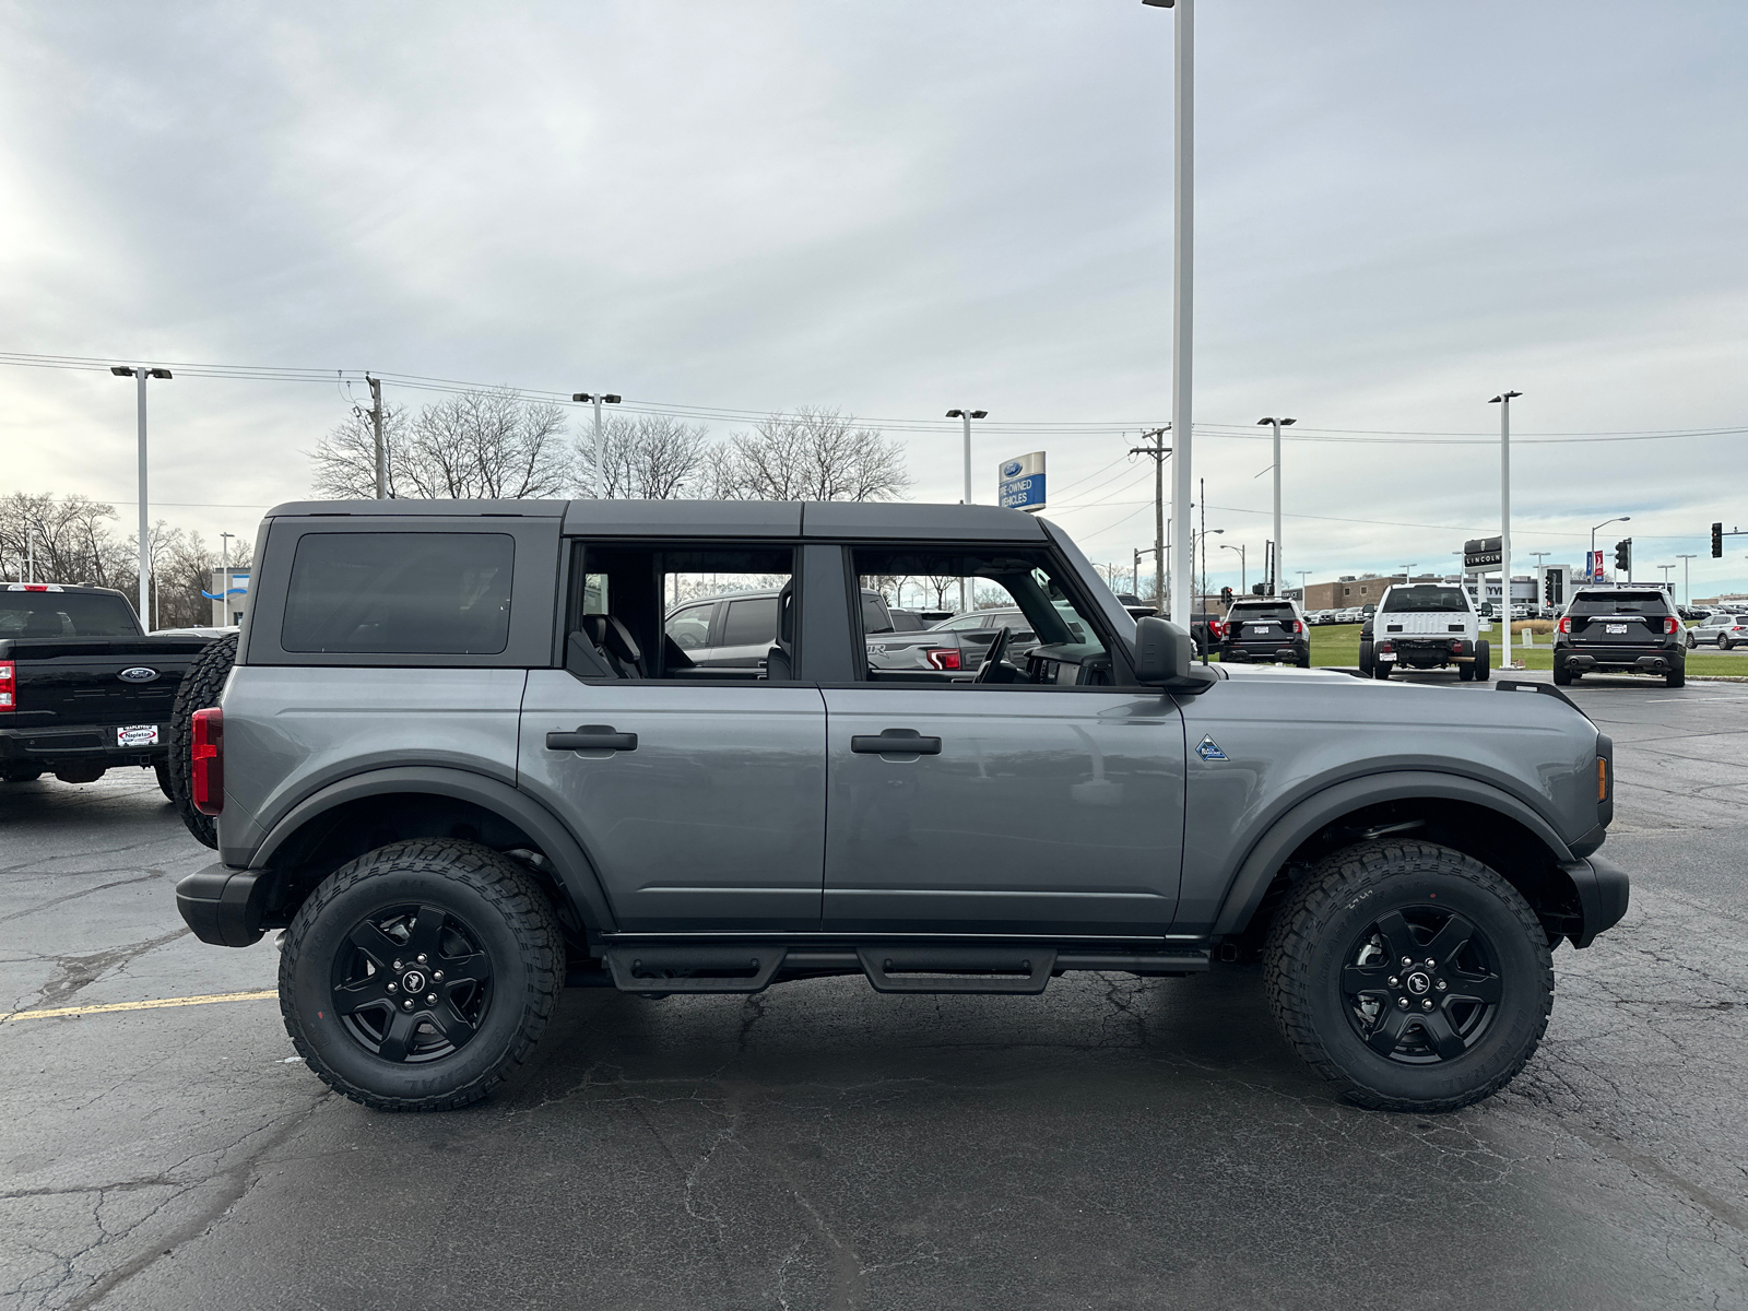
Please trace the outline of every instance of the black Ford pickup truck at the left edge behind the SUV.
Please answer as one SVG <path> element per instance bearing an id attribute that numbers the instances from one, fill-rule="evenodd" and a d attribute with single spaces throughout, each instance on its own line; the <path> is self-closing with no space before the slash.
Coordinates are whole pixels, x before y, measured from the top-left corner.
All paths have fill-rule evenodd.
<path id="1" fill-rule="evenodd" d="M 170 708 L 208 642 L 147 636 L 108 587 L 0 584 L 0 781 L 140 766 L 168 797 Z"/>

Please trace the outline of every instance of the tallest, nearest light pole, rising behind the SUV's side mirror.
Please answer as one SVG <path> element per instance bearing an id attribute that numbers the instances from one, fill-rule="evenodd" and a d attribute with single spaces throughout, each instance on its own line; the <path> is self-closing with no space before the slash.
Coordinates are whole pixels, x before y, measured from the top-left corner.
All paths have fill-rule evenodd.
<path id="1" fill-rule="evenodd" d="M 1171 47 L 1171 517 L 1190 521 L 1190 323 L 1196 252 L 1196 3 L 1141 0 L 1176 9 Z M 1171 566 L 1171 619 L 1185 631 L 1194 610 L 1194 561 L 1182 551 Z"/>

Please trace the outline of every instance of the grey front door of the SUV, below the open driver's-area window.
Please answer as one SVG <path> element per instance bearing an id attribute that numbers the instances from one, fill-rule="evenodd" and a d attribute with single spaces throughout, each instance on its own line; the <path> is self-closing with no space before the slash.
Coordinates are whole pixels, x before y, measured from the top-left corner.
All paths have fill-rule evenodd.
<path id="1" fill-rule="evenodd" d="M 914 554 L 883 559 L 858 549 L 857 572 L 946 572 L 947 561 Z M 988 554 L 1009 558 L 1007 565 L 1024 554 L 1019 563 L 1038 565 L 1045 586 L 1066 573 L 1044 552 L 1031 559 L 991 547 Z M 1072 603 L 1065 615 L 1047 591 L 1030 600 L 1038 614 L 1028 628 L 1040 638 L 1072 638 L 1070 624 L 1080 624 L 1092 640 L 1044 642 L 1028 668 L 1042 668 L 1052 652 L 1086 656 L 1091 668 L 1108 659 L 1110 633 L 1089 619 L 1091 607 Z M 1059 633 L 1051 631 L 1049 614 L 1058 614 Z M 1066 661 L 1049 668 L 1075 676 Z M 1176 704 L 1140 687 L 968 678 L 872 669 L 855 685 L 823 689 L 823 928 L 1162 935 L 1183 860 Z M 923 750 L 905 750 L 916 739 Z M 893 746 L 883 752 L 886 741 Z"/>

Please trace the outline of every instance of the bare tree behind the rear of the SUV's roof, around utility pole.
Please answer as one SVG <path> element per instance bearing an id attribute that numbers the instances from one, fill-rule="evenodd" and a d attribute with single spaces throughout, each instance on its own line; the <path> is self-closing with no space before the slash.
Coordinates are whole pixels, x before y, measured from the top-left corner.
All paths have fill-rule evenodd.
<path id="1" fill-rule="evenodd" d="M 388 495 L 425 500 L 563 496 L 570 488 L 565 411 L 509 388 L 458 392 L 416 416 L 383 407 Z M 376 496 L 376 437 L 351 414 L 311 453 L 316 491 Z"/>

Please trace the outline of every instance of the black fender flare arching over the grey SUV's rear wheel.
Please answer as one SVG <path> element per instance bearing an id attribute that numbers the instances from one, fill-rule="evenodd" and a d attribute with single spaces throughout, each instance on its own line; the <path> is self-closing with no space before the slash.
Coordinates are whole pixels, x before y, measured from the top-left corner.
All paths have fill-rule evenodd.
<path id="1" fill-rule="evenodd" d="M 267 830 L 260 846 L 255 848 L 248 867 L 252 871 L 269 869 L 273 857 L 294 834 L 336 806 L 395 792 L 420 792 L 434 797 L 468 801 L 503 816 L 540 844 L 540 851 L 552 862 L 552 871 L 558 874 L 559 884 L 593 932 L 612 933 L 617 928 L 594 862 L 589 860 L 587 851 L 582 850 L 582 843 L 577 841 L 577 836 L 570 832 L 565 822 L 526 792 L 467 769 L 390 766 L 336 780 L 311 792 L 281 815 L 280 822 Z"/>

